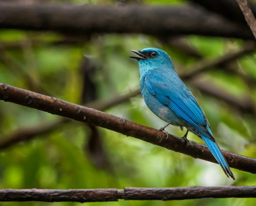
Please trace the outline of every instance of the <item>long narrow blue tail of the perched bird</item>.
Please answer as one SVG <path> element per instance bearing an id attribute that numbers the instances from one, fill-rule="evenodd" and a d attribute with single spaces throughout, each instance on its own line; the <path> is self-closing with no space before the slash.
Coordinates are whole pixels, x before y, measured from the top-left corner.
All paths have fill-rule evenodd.
<path id="1" fill-rule="evenodd" d="M 213 156 L 217 160 L 217 162 L 220 164 L 221 168 L 223 169 L 224 173 L 228 176 L 231 177 L 233 180 L 235 180 L 235 177 L 225 160 L 224 156 L 222 155 L 219 146 L 217 145 L 216 142 L 213 140 L 210 140 L 209 138 L 206 138 L 205 136 L 201 136 L 209 150 L 212 152 Z"/>

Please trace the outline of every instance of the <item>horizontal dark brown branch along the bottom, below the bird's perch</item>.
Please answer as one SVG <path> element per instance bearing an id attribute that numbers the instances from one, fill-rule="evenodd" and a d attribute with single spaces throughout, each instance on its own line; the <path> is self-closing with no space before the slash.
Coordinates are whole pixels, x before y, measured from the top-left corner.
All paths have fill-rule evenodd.
<path id="1" fill-rule="evenodd" d="M 0 201 L 106 202 L 124 200 L 185 200 L 201 198 L 256 197 L 256 186 L 125 187 L 123 190 L 2 189 Z"/>

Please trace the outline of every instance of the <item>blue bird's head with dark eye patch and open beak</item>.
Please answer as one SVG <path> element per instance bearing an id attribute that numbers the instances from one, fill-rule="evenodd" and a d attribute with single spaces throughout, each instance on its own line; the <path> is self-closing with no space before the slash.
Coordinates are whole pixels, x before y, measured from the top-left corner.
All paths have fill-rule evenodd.
<path id="1" fill-rule="evenodd" d="M 147 72 L 153 70 L 154 68 L 162 68 L 163 70 L 174 70 L 173 63 L 170 56 L 164 52 L 164 50 L 159 48 L 144 48 L 140 51 L 131 50 L 138 56 L 130 57 L 137 59 L 140 66 L 141 72 Z"/>

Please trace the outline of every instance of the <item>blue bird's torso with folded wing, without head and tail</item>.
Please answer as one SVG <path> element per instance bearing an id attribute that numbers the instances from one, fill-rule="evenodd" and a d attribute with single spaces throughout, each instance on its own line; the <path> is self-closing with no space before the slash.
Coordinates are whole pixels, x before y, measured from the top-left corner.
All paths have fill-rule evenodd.
<path id="1" fill-rule="evenodd" d="M 145 72 L 141 76 L 141 93 L 148 108 L 163 121 L 212 137 L 203 110 L 176 72 L 163 68 Z"/>

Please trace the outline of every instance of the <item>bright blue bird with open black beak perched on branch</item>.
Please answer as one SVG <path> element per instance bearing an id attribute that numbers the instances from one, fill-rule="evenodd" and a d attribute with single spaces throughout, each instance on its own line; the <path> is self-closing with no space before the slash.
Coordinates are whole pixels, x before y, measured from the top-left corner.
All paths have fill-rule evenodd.
<path id="1" fill-rule="evenodd" d="M 183 138 L 187 140 L 188 131 L 203 139 L 224 173 L 235 180 L 235 177 L 217 145 L 209 122 L 197 99 L 178 77 L 169 55 L 158 48 L 144 48 L 141 51 L 131 50 L 138 56 L 140 67 L 141 93 L 147 107 L 168 125 L 187 128 Z"/>

